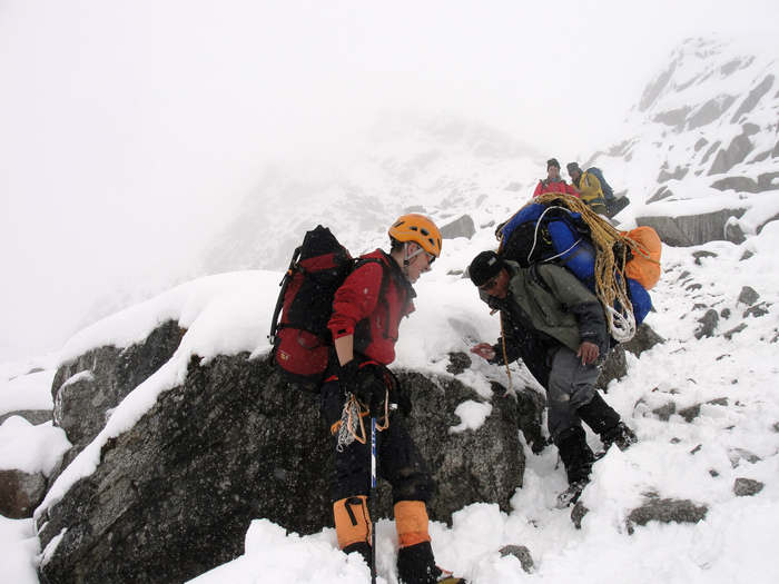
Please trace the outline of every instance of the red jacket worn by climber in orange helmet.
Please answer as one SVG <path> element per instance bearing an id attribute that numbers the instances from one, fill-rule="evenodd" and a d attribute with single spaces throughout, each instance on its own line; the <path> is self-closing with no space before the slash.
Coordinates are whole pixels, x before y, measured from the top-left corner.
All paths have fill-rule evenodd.
<path id="1" fill-rule="evenodd" d="M 397 263 L 381 249 L 362 256 L 368 261 L 346 278 L 335 293 L 333 316 L 327 327 L 333 338 L 354 335 L 354 350 L 382 365 L 395 360 L 401 319 L 414 311 L 414 288 L 406 281 Z M 386 276 L 385 276 L 386 274 Z M 379 299 L 382 279 L 387 279 L 384 299 Z"/>

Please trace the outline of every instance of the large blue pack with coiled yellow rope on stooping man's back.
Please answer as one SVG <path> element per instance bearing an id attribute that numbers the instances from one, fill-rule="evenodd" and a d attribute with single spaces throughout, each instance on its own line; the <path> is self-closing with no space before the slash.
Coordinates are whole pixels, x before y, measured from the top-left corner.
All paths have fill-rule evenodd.
<path id="1" fill-rule="evenodd" d="M 647 289 L 621 274 L 613 247 L 621 242 L 634 256 L 649 257 L 647 250 L 579 199 L 560 195 L 538 197 L 506 221 L 501 238 L 499 253 L 505 259 L 523 268 L 553 263 L 576 276 L 598 296 L 609 331 L 618 342 L 632 338 L 652 308 Z"/>

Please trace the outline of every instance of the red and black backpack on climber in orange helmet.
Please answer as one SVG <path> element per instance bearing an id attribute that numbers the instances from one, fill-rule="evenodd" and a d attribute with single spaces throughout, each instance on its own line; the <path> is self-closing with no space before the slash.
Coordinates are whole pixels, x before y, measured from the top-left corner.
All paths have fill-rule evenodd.
<path id="1" fill-rule="evenodd" d="M 379 259 L 353 258 L 327 227 L 319 225 L 307 231 L 295 249 L 279 284 L 282 290 L 268 335 L 276 367 L 292 387 L 319 389 L 333 344 L 327 328 L 333 298 L 346 277 L 368 261 L 382 266 L 383 297 L 388 280 L 384 264 Z"/>

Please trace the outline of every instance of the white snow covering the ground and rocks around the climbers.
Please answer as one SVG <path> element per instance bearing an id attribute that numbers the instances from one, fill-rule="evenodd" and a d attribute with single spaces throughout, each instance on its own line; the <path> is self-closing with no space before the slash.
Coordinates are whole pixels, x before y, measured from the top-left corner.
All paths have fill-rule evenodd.
<path id="1" fill-rule="evenodd" d="M 630 169 L 635 177 L 657 176 L 654 162 L 650 155 L 637 155 Z M 416 311 L 401 327 L 393 367 L 451 377 L 451 353 L 467 355 L 474 344 L 497 338 L 497 317 L 490 316 L 462 273 L 477 253 L 495 247 L 494 225 L 530 195 L 526 188 L 522 195 L 506 191 L 506 181 L 527 179 L 531 185 L 533 177 L 543 176 L 543 162 L 533 166 L 520 161 L 520 166 L 532 168 L 532 172 L 520 172 L 517 178 L 515 165 L 511 177 L 505 167 L 492 182 L 487 177 L 474 178 L 482 189 L 469 194 L 472 200 L 457 202 L 461 210 L 471 214 L 477 232 L 471 239 L 445 240 L 443 256 L 416 285 Z M 630 187 L 634 202 L 641 202 L 642 189 L 648 196 L 657 188 L 650 180 L 639 186 L 639 178 L 630 184 L 625 177 L 623 184 Z M 434 178 L 431 176 L 431 181 Z M 558 493 L 566 486 L 556 449 L 548 447 L 533 454 L 526 445 L 523 486 L 513 494 L 510 513 L 480 503 L 455 513 L 451 526 L 432 523 L 438 564 L 467 577 L 471 584 L 779 581 L 775 553 L 779 546 L 779 221 L 766 224 L 776 217 L 779 202 L 771 192 L 741 196 L 708 187 L 699 191 L 701 182 L 694 177 L 669 184 L 676 197 L 684 200 L 655 204 L 648 212 L 680 216 L 742 205 L 748 210 L 739 225 L 748 238 L 741 245 L 716 241 L 663 248 L 663 275 L 651 291 L 654 311 L 647 323 L 665 342 L 640 357 L 628 355 L 628 376 L 612 382 L 604 395 L 637 432 L 639 443 L 627 452 L 612 447 L 595 464 L 592 482 L 582 495 L 589 513 L 581 529 L 571 521 L 570 509 L 554 505 Z M 426 212 L 441 225 L 456 210 L 426 206 Z M 314 227 L 327 222 L 332 209 L 323 210 L 312 201 L 307 212 Z M 635 212 L 631 208 L 622 214 L 623 227 L 631 226 Z M 384 246 L 386 239 L 384 232 L 355 235 L 346 228 L 336 235 L 348 241 L 354 253 L 369 251 L 371 245 Z M 696 257 L 697 251 L 707 254 Z M 50 387 L 60 365 L 105 345 L 131 346 L 168 320 L 185 330 L 174 357 L 114 409 L 103 430 L 51 486 L 42 508 L 95 471 L 106 441 L 132 427 L 161 393 L 183 383 L 193 355 L 206 360 L 220 354 L 265 355 L 270 349 L 266 335 L 280 278 L 275 270 L 247 270 L 196 279 L 85 328 L 55 357 L 1 364 L 0 415 L 51 409 Z M 757 304 L 766 311 L 762 316 L 748 311 L 739 301 L 745 286 L 760 295 Z M 720 315 L 714 336 L 698 339 L 699 319 L 709 309 Z M 460 424 L 451 432 L 477 429 L 491 415 L 491 402 L 513 398 L 512 390 L 505 396 L 493 395 L 491 382 L 538 388 L 520 365 L 512 366 L 510 378 L 505 368 L 471 359 L 472 366 L 457 378 L 480 399 L 456 408 Z M 30 373 L 38 365 L 43 370 Z M 674 413 L 667 420 L 654 414 L 671 404 Z M 688 420 L 680 413 L 693 406 L 700 406 L 700 414 Z M 596 448 L 598 438 L 591 433 L 588 436 Z M 63 433 L 50 423 L 31 426 L 11 416 L 0 425 L 0 469 L 48 475 L 67 447 Z M 765 487 L 753 496 L 739 497 L 733 492 L 738 478 L 755 479 Z M 650 495 L 706 505 L 706 518 L 697 524 L 650 523 L 631 534 L 628 515 Z M 377 536 L 378 582 L 395 584 L 394 523 L 379 521 Z M 0 517 L 3 577 L 22 584 L 37 582 L 34 567 L 57 542 L 41 551 L 32 519 Z M 504 545 L 530 550 L 534 561 L 531 573 L 524 572 L 517 558 L 501 557 L 497 551 Z M 256 518 L 246 534 L 244 555 L 191 582 L 356 584 L 367 582 L 368 573 L 361 558 L 338 551 L 332 528 L 302 536 Z"/>

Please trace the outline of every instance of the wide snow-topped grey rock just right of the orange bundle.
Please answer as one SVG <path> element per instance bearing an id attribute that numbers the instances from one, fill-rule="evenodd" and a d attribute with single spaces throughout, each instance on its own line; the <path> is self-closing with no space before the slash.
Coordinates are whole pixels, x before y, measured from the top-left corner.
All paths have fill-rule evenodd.
<path id="1" fill-rule="evenodd" d="M 709 241 L 724 241 L 724 230 L 729 219 L 740 218 L 742 215 L 743 209 L 721 209 L 680 217 L 637 217 L 637 221 L 640 226 L 648 225 L 658 231 L 660 239 L 669 246 L 689 247 Z"/>

